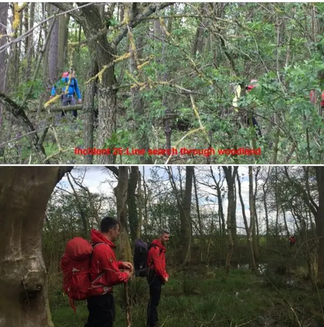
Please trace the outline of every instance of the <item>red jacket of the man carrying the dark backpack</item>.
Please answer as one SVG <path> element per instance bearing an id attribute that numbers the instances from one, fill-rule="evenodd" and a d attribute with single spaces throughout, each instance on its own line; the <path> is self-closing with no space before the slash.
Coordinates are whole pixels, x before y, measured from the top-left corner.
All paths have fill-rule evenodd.
<path id="1" fill-rule="evenodd" d="M 156 272 L 162 279 L 169 277 L 166 272 L 166 248 L 156 239 L 152 242 L 152 246 L 147 255 L 147 266 Z"/>

